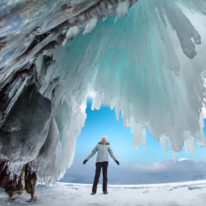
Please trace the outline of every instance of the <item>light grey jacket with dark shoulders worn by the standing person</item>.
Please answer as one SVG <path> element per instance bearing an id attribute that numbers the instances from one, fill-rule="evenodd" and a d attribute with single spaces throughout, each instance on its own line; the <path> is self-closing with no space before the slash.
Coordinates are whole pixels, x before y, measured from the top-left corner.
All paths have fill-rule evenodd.
<path id="1" fill-rule="evenodd" d="M 116 161 L 117 159 L 115 158 L 112 149 L 110 147 L 109 142 L 99 142 L 94 149 L 92 150 L 92 152 L 90 153 L 90 155 L 86 158 L 87 160 L 89 160 L 91 157 L 93 157 L 95 155 L 95 153 L 97 153 L 97 158 L 96 158 L 96 162 L 105 162 L 108 161 L 108 153 L 110 154 L 110 156 L 112 157 L 112 159 L 114 161 Z"/>

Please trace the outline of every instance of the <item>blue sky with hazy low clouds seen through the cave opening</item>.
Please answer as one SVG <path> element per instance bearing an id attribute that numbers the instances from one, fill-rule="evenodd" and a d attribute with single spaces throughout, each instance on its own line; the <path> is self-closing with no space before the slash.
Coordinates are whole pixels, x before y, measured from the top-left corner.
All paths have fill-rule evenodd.
<path id="1" fill-rule="evenodd" d="M 160 143 L 147 130 L 146 147 L 141 145 L 138 149 L 135 149 L 130 128 L 123 127 L 121 115 L 119 121 L 116 121 L 114 110 L 102 106 L 100 110 L 92 111 L 91 103 L 92 99 L 88 98 L 85 126 L 77 138 L 73 165 L 66 173 L 63 181 L 92 183 L 96 155 L 86 165 L 83 165 L 82 161 L 89 155 L 103 135 L 108 137 L 114 155 L 120 162 L 120 166 L 117 166 L 110 159 L 109 174 L 112 183 L 157 183 L 206 177 L 206 148 L 200 148 L 195 144 L 196 152 L 194 154 L 186 153 L 183 148 L 176 159 L 184 158 L 188 160 L 175 163 L 171 150 L 165 152 Z M 205 128 L 204 133 L 206 133 Z M 154 170 L 154 168 L 156 169 Z M 191 168 L 196 169 L 193 171 Z M 181 172 L 179 172 L 180 170 Z M 187 172 L 188 175 L 185 175 Z M 145 174 L 147 175 L 145 176 Z M 143 182 L 142 179 L 144 179 Z"/>

